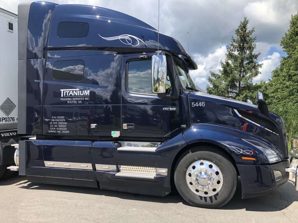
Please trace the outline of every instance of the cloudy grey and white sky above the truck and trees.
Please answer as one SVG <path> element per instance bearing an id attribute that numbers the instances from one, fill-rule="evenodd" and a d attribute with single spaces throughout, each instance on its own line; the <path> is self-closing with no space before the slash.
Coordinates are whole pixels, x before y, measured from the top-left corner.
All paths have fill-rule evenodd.
<path id="1" fill-rule="evenodd" d="M 21 0 L 0 1 L 0 7 L 17 13 Z M 158 0 L 52 0 L 58 4 L 88 4 L 110 8 L 134 16 L 157 29 Z M 249 28 L 255 27 L 256 53 L 261 52 L 261 75 L 254 82 L 267 81 L 271 71 L 286 56 L 279 45 L 280 38 L 289 28 L 292 14 L 298 11 L 297 0 L 161 0 L 160 32 L 176 38 L 198 64 L 191 72 L 195 83 L 205 89 L 209 70 L 217 72 L 225 57 L 225 45 L 234 30 L 249 18 Z"/>

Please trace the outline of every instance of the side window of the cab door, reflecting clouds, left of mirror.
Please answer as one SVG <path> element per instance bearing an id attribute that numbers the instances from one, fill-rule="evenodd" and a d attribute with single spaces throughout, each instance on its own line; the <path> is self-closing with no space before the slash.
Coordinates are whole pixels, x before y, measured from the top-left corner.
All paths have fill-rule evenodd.
<path id="1" fill-rule="evenodd" d="M 153 94 L 151 64 L 151 60 L 137 60 L 128 63 L 129 92 Z"/>

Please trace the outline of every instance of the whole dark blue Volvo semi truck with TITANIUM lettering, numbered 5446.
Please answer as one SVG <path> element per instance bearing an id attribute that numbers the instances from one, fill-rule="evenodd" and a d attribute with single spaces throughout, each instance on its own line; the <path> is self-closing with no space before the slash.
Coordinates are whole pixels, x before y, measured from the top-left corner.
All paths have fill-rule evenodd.
<path id="1" fill-rule="evenodd" d="M 50 2 L 18 6 L 19 175 L 218 208 L 285 183 L 283 120 L 207 95 L 182 45 L 123 13 Z M 159 36 L 159 37 L 158 37 Z"/>

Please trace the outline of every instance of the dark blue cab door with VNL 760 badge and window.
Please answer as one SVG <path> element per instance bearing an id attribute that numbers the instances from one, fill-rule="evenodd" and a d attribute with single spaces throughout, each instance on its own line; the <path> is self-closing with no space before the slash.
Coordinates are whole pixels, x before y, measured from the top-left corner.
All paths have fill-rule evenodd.
<path id="1" fill-rule="evenodd" d="M 179 101 L 152 92 L 151 57 L 123 59 L 122 136 L 164 137 L 179 128 Z M 167 77 L 167 94 L 171 92 Z"/>

